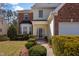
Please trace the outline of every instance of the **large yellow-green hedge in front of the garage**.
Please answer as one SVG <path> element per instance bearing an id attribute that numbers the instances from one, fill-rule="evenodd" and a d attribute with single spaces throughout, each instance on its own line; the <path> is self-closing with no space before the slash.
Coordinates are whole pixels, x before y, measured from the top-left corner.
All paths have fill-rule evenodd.
<path id="1" fill-rule="evenodd" d="M 52 47 L 54 55 L 79 56 L 79 36 L 54 36 Z"/>

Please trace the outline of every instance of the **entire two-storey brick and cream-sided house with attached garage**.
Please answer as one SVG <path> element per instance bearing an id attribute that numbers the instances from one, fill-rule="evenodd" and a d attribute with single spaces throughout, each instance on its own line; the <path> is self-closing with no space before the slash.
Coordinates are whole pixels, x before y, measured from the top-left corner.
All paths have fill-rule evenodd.
<path id="1" fill-rule="evenodd" d="M 31 34 L 37 38 L 53 35 L 78 35 L 78 7 L 78 3 L 36 3 L 30 11 L 19 12 L 20 31 L 22 34 L 32 32 Z"/>

